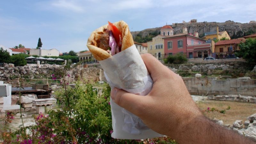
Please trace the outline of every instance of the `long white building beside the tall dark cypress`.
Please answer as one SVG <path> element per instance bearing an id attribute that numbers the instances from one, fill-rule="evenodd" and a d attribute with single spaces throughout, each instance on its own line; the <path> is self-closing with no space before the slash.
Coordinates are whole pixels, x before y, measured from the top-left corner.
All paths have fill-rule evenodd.
<path id="1" fill-rule="evenodd" d="M 57 49 L 31 49 L 29 55 L 38 55 L 38 56 L 59 56 L 59 51 Z"/>

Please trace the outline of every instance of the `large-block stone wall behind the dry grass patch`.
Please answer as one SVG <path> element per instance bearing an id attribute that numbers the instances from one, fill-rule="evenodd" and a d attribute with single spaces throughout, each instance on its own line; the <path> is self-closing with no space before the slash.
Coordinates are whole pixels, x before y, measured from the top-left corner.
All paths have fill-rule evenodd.
<path id="1" fill-rule="evenodd" d="M 183 77 L 190 94 L 196 95 L 220 95 L 220 94 L 241 94 L 256 96 L 256 80 L 250 78 L 236 78 L 220 80 L 212 78 L 191 78 Z"/>

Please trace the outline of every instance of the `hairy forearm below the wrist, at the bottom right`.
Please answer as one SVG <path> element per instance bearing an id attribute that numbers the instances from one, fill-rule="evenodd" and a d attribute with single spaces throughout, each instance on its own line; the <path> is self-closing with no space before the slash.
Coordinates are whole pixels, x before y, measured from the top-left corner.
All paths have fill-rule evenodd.
<path id="1" fill-rule="evenodd" d="M 233 132 L 219 124 L 215 124 L 204 116 L 192 119 L 190 122 L 180 127 L 179 132 L 175 135 L 178 143 L 254 143 L 252 140 Z"/>

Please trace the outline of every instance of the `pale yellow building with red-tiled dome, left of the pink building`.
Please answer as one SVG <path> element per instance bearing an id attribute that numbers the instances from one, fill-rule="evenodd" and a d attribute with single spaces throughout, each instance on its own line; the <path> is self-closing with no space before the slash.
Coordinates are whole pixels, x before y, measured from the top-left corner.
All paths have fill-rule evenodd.
<path id="1" fill-rule="evenodd" d="M 152 38 L 152 41 L 147 42 L 148 53 L 152 54 L 156 59 L 164 59 L 164 40 L 162 38 L 173 35 L 173 28 L 165 25 L 160 30 L 160 35 Z"/>

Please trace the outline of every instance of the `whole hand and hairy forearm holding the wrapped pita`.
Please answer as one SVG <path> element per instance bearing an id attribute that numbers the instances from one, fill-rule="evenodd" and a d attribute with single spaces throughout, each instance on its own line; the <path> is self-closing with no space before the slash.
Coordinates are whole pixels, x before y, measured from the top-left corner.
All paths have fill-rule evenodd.
<path id="1" fill-rule="evenodd" d="M 139 116 L 152 130 L 178 143 L 253 143 L 204 117 L 182 78 L 151 54 L 141 55 L 153 79 L 152 90 L 138 96 L 120 89 L 111 91 L 116 104 Z"/>

